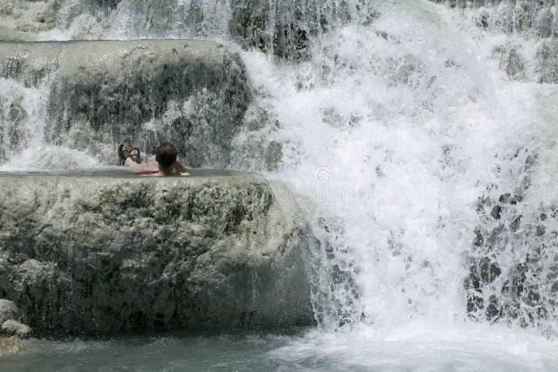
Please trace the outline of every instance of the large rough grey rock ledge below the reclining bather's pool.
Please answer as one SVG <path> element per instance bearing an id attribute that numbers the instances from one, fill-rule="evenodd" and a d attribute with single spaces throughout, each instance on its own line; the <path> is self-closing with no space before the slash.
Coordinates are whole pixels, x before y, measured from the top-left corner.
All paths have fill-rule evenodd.
<path id="1" fill-rule="evenodd" d="M 2 175 L 0 188 L 0 298 L 35 334 L 313 321 L 319 242 L 259 174 Z"/>

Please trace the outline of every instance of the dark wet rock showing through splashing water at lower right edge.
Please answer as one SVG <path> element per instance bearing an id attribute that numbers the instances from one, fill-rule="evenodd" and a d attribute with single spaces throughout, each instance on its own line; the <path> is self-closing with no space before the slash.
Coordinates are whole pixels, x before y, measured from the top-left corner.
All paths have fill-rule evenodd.
<path id="1" fill-rule="evenodd" d="M 558 206 L 524 202 L 536 156 L 527 156 L 508 192 L 487 188 L 465 279 L 469 317 L 555 332 L 558 304 Z"/>

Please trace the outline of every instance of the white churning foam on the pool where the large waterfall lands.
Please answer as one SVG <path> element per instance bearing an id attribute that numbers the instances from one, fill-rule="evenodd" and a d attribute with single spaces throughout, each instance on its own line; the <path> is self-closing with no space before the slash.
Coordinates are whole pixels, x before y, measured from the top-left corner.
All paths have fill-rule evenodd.
<path id="1" fill-rule="evenodd" d="M 556 347 L 532 332 L 421 320 L 382 332 L 310 332 L 269 355 L 338 371 L 555 371 Z"/>

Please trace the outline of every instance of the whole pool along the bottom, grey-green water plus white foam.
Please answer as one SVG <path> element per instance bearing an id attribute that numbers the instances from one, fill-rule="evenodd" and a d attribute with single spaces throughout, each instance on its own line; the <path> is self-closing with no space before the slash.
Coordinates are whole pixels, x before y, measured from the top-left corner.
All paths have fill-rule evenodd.
<path id="1" fill-rule="evenodd" d="M 0 370 L 558 371 L 556 346 L 532 332 L 471 324 L 173 332 L 28 340 Z"/>

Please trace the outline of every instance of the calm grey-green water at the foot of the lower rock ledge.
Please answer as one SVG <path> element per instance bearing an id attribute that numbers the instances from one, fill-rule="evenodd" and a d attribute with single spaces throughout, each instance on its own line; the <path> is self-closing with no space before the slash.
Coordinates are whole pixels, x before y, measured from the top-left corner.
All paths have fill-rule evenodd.
<path id="1" fill-rule="evenodd" d="M 267 332 L 173 333 L 110 339 L 32 340 L 2 360 L 2 371 L 276 371 L 312 368 L 270 354 L 301 338 Z"/>

